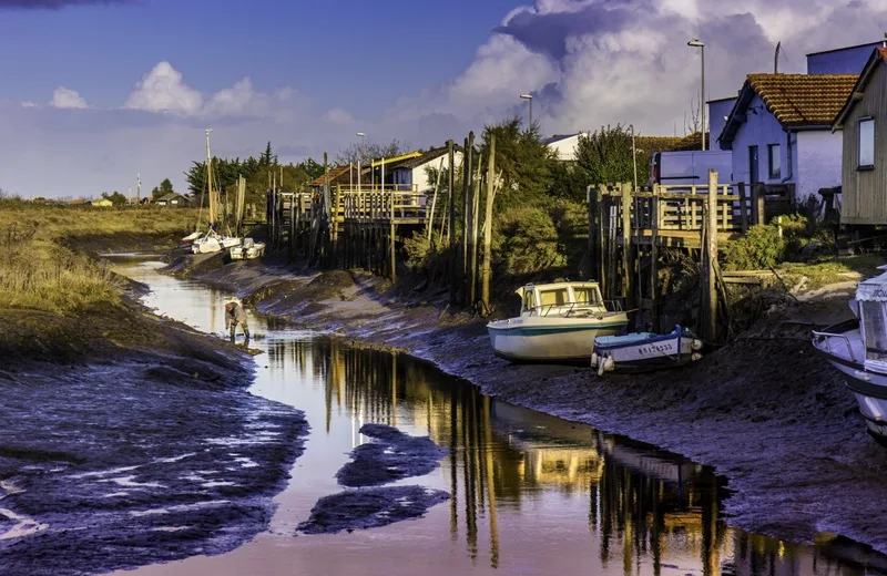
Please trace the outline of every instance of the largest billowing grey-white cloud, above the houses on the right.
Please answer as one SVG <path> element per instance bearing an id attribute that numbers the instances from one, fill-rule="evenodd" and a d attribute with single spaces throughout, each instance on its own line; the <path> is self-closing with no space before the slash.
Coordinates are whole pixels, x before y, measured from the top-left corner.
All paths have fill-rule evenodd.
<path id="1" fill-rule="evenodd" d="M 548 134 L 618 122 L 683 134 L 691 101 L 699 105 L 691 38 L 706 42 L 712 100 L 735 95 L 747 73 L 772 71 L 776 42 L 787 56 L 781 71 L 804 72 L 807 52 L 879 40 L 885 24 L 883 0 L 537 0 L 509 12 L 461 74 L 387 115 L 417 134 L 438 114 L 457 119 L 449 130 L 477 130 L 524 112 L 518 96 L 531 92 Z"/>

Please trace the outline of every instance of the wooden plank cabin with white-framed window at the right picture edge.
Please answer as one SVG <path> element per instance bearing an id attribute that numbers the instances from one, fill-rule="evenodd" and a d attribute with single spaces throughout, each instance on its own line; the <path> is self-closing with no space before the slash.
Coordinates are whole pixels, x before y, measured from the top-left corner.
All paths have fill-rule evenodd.
<path id="1" fill-rule="evenodd" d="M 887 48 L 873 50 L 832 130 L 844 137 L 840 223 L 887 225 Z"/>

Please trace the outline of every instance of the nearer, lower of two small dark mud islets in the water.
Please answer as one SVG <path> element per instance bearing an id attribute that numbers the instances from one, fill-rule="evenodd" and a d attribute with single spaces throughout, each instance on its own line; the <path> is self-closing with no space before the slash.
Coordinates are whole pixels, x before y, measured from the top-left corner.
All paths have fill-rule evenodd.
<path id="1" fill-rule="evenodd" d="M 320 498 L 298 529 L 305 534 L 336 534 L 378 528 L 420 518 L 428 508 L 449 498 L 441 490 L 422 486 L 349 490 Z"/>

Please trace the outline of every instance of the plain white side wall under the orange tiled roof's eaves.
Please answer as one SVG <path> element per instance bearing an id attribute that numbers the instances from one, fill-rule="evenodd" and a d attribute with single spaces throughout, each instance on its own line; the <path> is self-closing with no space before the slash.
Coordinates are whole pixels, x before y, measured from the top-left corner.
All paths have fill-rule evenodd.
<path id="1" fill-rule="evenodd" d="M 830 188 L 840 184 L 842 134 L 830 130 L 798 132 L 797 158 L 795 163 L 795 196 L 804 202 L 818 194 L 819 188 Z"/>

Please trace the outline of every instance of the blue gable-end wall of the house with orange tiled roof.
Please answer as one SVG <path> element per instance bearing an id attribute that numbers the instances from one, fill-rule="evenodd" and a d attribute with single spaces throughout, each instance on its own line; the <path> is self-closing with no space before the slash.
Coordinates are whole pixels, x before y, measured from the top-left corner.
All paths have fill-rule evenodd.
<path id="1" fill-rule="evenodd" d="M 782 184 L 783 181 L 789 176 L 787 138 L 782 124 L 767 111 L 767 107 L 759 96 L 755 96 L 754 100 L 752 100 L 746 110 L 746 117 L 747 120 L 740 126 L 733 140 L 733 181 L 752 182 L 748 163 L 748 146 L 757 145 L 757 182 Z M 768 177 L 768 144 L 779 145 L 779 156 L 782 160 L 782 174 L 779 178 L 771 179 Z M 797 154 L 795 153 L 797 146 L 795 145 L 794 137 L 792 138 L 792 178 L 785 181 L 787 184 L 795 183 L 794 176 L 797 174 Z"/>

